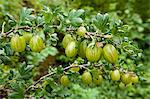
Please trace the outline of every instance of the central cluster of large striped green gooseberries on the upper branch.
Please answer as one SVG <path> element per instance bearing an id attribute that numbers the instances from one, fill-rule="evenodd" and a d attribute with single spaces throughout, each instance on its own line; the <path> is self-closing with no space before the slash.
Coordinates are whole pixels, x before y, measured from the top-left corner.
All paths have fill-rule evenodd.
<path id="1" fill-rule="evenodd" d="M 86 28 L 81 26 L 76 33 L 83 37 L 86 32 Z M 118 52 L 111 44 L 106 44 L 102 49 L 96 42 L 90 43 L 87 39 L 84 39 L 81 43 L 78 43 L 71 34 L 66 34 L 62 45 L 67 57 L 74 58 L 78 54 L 82 58 L 87 58 L 89 62 L 97 62 L 102 56 L 110 63 L 115 63 L 118 60 Z"/>

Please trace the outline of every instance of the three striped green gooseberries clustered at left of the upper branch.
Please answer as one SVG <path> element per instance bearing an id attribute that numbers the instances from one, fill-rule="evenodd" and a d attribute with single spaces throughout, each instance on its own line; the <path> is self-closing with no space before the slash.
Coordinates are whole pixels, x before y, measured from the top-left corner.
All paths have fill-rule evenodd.
<path id="1" fill-rule="evenodd" d="M 40 52 L 45 47 L 45 44 L 40 36 L 32 36 L 31 33 L 27 32 L 23 33 L 23 36 L 16 34 L 11 38 L 10 43 L 12 50 L 15 52 L 25 51 L 27 44 L 29 44 L 33 52 Z"/>

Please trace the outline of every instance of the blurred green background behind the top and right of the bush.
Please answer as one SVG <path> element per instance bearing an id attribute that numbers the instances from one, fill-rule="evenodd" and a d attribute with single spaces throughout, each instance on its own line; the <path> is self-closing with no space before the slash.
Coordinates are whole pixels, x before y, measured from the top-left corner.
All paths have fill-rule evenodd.
<path id="1" fill-rule="evenodd" d="M 44 6 L 65 10 L 82 8 L 86 14 L 109 13 L 128 24 L 129 39 L 143 50 L 141 63 L 147 82 L 138 91 L 143 96 L 150 94 L 150 0 L 0 0 L 0 28 L 5 21 L 5 31 L 8 31 L 11 22 L 7 20 L 13 18 L 11 16 L 18 19 L 22 7 L 38 12 Z"/>

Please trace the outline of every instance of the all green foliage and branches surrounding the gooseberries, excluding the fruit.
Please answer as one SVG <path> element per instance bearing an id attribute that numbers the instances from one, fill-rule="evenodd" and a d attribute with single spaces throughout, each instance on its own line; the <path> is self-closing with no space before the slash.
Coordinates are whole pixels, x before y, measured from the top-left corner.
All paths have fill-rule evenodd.
<path id="1" fill-rule="evenodd" d="M 148 65 L 149 61 L 146 57 L 149 54 L 149 36 L 146 36 L 149 19 L 145 17 L 148 10 L 139 13 L 136 0 L 51 1 L 0 1 L 0 19 L 4 19 L 0 21 L 0 97 L 150 98 L 150 69 L 143 65 Z M 77 33 L 81 26 L 87 31 L 84 36 Z M 45 47 L 39 52 L 32 52 L 27 43 L 25 51 L 15 52 L 10 40 L 16 34 L 24 36 L 25 32 L 41 37 Z M 66 34 L 70 34 L 77 45 L 83 40 L 87 40 L 91 48 L 114 45 L 119 53 L 118 61 L 111 64 L 103 57 L 98 62 L 89 62 L 78 55 L 67 57 L 61 43 Z M 76 49 L 79 50 L 78 46 Z M 74 71 L 76 68 L 80 70 Z M 139 83 L 124 85 L 121 80 L 112 81 L 110 72 L 115 69 L 120 75 L 126 72 L 136 74 Z M 92 77 L 102 75 L 102 83 L 99 86 L 84 84 L 82 74 L 85 70 Z M 60 83 L 64 74 L 70 80 L 68 86 Z M 1 94 L 3 92 L 5 94 Z"/>

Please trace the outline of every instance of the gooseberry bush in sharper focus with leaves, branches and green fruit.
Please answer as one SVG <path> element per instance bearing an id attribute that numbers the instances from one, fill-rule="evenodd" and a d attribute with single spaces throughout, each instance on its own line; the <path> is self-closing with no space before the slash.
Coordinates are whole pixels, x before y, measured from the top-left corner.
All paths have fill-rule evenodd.
<path id="1" fill-rule="evenodd" d="M 142 50 L 128 32 L 128 25 L 107 13 L 23 8 L 19 19 L 3 22 L 0 34 L 1 97 L 138 97 Z"/>

